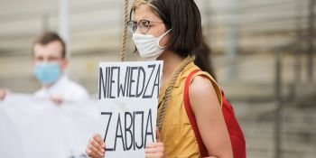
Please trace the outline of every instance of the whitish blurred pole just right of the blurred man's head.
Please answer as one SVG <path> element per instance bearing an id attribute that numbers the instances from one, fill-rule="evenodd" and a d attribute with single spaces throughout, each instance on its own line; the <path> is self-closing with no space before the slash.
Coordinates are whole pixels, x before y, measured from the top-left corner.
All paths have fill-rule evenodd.
<path id="1" fill-rule="evenodd" d="M 58 32 L 66 43 L 67 58 L 70 59 L 70 33 L 69 33 L 69 1 L 58 1 Z"/>

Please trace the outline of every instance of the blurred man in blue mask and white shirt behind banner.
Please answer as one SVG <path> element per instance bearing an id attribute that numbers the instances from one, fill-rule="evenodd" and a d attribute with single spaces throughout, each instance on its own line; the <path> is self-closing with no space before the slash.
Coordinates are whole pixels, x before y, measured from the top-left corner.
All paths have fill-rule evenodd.
<path id="1" fill-rule="evenodd" d="M 42 88 L 34 96 L 51 98 L 59 104 L 87 99 L 86 89 L 64 76 L 67 66 L 66 45 L 57 33 L 43 33 L 37 38 L 33 42 L 33 73 L 42 83 Z M 5 98 L 5 94 L 7 92 L 0 90 L 0 99 Z"/>

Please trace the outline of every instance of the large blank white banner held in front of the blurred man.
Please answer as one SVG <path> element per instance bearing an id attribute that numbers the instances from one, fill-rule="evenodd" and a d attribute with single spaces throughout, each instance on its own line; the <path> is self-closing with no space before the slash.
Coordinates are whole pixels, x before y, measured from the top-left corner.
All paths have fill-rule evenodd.
<path id="1" fill-rule="evenodd" d="M 10 94 L 0 101 L 0 157 L 86 158 L 98 129 L 97 100 L 64 101 Z"/>

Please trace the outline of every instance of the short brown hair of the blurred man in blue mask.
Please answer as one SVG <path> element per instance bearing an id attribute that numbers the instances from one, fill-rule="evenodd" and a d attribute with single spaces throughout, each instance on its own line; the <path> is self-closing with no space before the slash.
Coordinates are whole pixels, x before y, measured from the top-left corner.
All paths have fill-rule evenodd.
<path id="1" fill-rule="evenodd" d="M 65 42 L 60 38 L 60 36 L 58 35 L 58 33 L 54 33 L 54 32 L 46 32 L 46 33 L 42 33 L 42 35 L 40 35 L 38 38 L 36 38 L 36 40 L 33 42 L 33 47 L 32 47 L 32 51 L 34 53 L 34 45 L 35 44 L 41 44 L 41 45 L 47 45 L 51 42 L 60 42 L 61 43 L 61 58 L 65 59 L 66 57 L 66 44 Z"/>

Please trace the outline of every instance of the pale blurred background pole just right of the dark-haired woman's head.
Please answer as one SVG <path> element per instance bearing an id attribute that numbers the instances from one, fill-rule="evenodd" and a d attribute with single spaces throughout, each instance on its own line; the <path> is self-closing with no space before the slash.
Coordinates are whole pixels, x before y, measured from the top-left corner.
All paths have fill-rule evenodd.
<path id="1" fill-rule="evenodd" d="M 230 0 L 228 11 L 228 80 L 236 78 L 236 54 L 237 54 L 237 0 Z"/>

